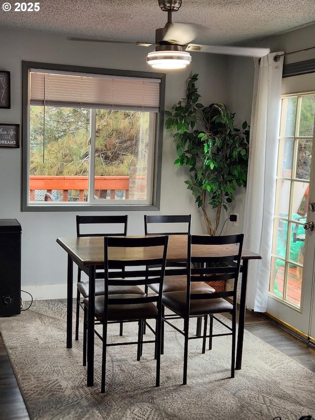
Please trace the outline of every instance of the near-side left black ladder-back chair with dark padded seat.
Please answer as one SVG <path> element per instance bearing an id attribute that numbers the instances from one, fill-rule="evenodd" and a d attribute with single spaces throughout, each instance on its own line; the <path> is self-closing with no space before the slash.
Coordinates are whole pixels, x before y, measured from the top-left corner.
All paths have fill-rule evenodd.
<path id="1" fill-rule="evenodd" d="M 160 379 L 160 347 L 161 347 L 161 306 L 162 283 L 165 271 L 168 236 L 146 238 L 104 238 L 104 290 L 102 296 L 95 296 L 95 318 L 103 325 L 102 333 L 95 334 L 102 340 L 102 376 L 101 392 L 105 392 L 106 351 L 113 345 L 137 345 L 137 360 L 142 355 L 144 343 L 155 343 L 155 358 L 157 359 L 156 386 Z M 115 259 L 123 248 L 125 260 Z M 139 249 L 139 251 L 138 251 Z M 143 252 L 143 249 L 145 251 Z M 114 257 L 116 254 L 116 257 Z M 130 257 L 128 257 L 128 254 Z M 145 256 L 144 256 L 145 255 Z M 154 264 L 154 270 L 148 270 L 148 265 Z M 123 275 L 122 275 L 123 273 Z M 114 287 L 139 287 L 159 284 L 159 292 L 154 296 L 141 294 L 110 294 Z M 86 329 L 89 298 L 84 299 L 84 349 L 86 349 Z M 155 328 L 147 320 L 155 320 Z M 107 344 L 107 324 L 121 322 L 138 322 L 138 339 L 133 342 Z M 154 340 L 144 340 L 143 329 L 147 326 L 155 335 Z"/>

